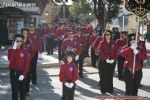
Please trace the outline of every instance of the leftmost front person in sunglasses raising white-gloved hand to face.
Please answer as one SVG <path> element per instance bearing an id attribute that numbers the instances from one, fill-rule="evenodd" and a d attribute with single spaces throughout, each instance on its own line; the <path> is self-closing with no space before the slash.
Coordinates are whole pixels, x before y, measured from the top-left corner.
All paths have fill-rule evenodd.
<path id="1" fill-rule="evenodd" d="M 8 50 L 12 100 L 18 100 L 18 93 L 20 93 L 20 100 L 26 100 L 25 83 L 30 66 L 30 55 L 23 47 L 23 39 L 23 35 L 16 34 L 13 47 Z"/>

